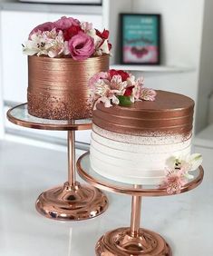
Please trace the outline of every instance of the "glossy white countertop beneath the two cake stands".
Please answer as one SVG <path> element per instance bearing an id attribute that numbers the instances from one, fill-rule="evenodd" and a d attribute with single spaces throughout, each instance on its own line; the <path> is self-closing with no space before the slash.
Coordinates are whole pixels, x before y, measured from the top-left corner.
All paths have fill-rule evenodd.
<path id="1" fill-rule="evenodd" d="M 166 238 L 173 256 L 213 255 L 213 151 L 196 152 L 205 168 L 197 189 L 142 202 L 142 226 Z M 0 255 L 93 256 L 104 232 L 130 225 L 131 196 L 112 193 L 108 211 L 91 221 L 45 219 L 34 202 L 65 179 L 65 153 L 0 141 Z"/>

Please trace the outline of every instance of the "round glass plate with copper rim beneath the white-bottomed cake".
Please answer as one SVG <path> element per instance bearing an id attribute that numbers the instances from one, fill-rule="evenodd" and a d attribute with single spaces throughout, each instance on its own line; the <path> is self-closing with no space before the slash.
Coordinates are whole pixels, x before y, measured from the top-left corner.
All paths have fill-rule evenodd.
<path id="1" fill-rule="evenodd" d="M 95 172 L 90 164 L 90 153 L 84 153 L 77 162 L 77 169 L 83 180 L 93 186 L 110 191 L 141 196 L 163 196 L 169 195 L 166 189 L 160 189 L 157 185 L 133 185 L 124 182 L 115 182 Z M 193 172 L 194 179 L 181 188 L 182 192 L 188 192 L 202 182 L 204 171 L 202 166 Z"/>

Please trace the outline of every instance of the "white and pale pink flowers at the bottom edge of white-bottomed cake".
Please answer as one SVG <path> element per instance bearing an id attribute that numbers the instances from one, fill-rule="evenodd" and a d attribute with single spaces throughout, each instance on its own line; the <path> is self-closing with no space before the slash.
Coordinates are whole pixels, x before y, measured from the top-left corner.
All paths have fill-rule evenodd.
<path id="1" fill-rule="evenodd" d="M 167 160 L 166 178 L 160 184 L 160 188 L 166 188 L 169 194 L 179 193 L 184 186 L 194 176 L 189 172 L 195 171 L 202 162 L 199 153 L 193 153 L 185 157 L 170 157 Z"/>

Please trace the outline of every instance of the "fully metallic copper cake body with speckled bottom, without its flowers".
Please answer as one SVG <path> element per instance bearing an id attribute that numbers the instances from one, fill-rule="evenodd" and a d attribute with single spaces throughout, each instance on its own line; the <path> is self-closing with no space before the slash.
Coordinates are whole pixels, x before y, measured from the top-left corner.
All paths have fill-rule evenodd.
<path id="1" fill-rule="evenodd" d="M 92 116 L 88 81 L 93 74 L 108 70 L 108 54 L 84 61 L 28 56 L 28 112 L 58 120 Z"/>

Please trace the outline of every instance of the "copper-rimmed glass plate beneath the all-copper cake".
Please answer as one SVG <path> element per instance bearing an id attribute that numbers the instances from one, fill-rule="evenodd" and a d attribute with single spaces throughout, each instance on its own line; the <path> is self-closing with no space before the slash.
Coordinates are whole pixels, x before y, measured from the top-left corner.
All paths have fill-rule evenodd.
<path id="1" fill-rule="evenodd" d="M 91 119 L 78 120 L 50 120 L 30 115 L 27 110 L 27 103 L 20 104 L 7 112 L 10 122 L 20 126 L 55 131 L 77 131 L 88 130 L 92 127 Z"/>

